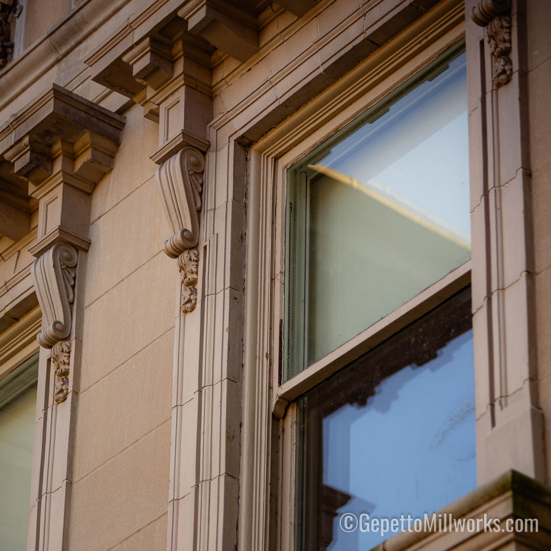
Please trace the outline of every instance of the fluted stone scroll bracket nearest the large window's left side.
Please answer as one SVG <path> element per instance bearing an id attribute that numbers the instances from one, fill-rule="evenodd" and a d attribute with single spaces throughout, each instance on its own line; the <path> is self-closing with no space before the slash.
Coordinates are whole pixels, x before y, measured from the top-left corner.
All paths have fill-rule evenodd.
<path id="1" fill-rule="evenodd" d="M 199 241 L 204 166 L 203 154 L 194 147 L 186 147 L 160 165 L 155 173 L 166 218 L 174 232 L 165 241 L 165 252 L 171 258 L 193 249 Z"/>

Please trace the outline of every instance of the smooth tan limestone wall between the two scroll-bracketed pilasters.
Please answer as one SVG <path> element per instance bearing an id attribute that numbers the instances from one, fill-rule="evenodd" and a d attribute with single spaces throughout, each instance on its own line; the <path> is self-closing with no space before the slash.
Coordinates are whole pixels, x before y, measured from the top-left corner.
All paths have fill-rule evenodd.
<path id="1" fill-rule="evenodd" d="M 177 269 L 141 107 L 91 196 L 71 549 L 166 547 Z"/>

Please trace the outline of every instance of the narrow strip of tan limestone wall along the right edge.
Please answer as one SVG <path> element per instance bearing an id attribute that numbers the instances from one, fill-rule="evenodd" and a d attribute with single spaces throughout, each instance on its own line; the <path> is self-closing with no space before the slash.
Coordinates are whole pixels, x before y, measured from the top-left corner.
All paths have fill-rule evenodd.
<path id="1" fill-rule="evenodd" d="M 528 115 L 532 169 L 536 331 L 540 401 L 545 415 L 547 480 L 551 473 L 551 3 L 527 2 Z"/>

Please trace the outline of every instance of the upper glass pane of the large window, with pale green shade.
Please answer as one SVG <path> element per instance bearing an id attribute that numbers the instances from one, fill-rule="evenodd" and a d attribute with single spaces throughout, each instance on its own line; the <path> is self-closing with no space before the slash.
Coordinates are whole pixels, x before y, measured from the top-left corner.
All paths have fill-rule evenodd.
<path id="1" fill-rule="evenodd" d="M 288 171 L 284 379 L 471 257 L 463 46 Z"/>

